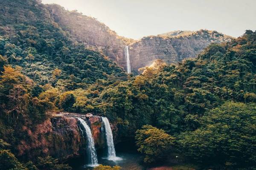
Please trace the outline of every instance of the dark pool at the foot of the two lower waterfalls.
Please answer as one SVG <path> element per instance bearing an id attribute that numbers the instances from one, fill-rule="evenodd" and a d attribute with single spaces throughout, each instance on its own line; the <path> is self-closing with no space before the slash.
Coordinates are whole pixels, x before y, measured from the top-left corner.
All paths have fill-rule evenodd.
<path id="1" fill-rule="evenodd" d="M 116 144 L 116 156 L 122 160 L 110 161 L 107 159 L 106 152 L 104 150 L 99 150 L 98 163 L 110 166 L 118 165 L 122 167 L 122 170 L 145 170 L 145 167 L 140 164 L 143 161 L 141 155 L 137 153 L 136 148 L 129 144 L 129 142 Z M 68 163 L 73 167 L 73 170 L 93 170 L 93 167 L 84 166 L 83 160 L 84 158 L 79 158 Z"/>

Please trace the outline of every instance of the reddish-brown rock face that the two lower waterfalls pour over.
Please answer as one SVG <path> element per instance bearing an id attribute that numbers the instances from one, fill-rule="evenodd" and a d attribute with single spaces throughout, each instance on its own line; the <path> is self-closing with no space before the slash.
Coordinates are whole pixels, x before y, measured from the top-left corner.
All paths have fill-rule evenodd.
<path id="1" fill-rule="evenodd" d="M 53 156 L 61 161 L 80 156 L 85 153 L 86 139 L 81 134 L 76 117 L 84 119 L 91 127 L 96 149 L 106 146 L 105 131 L 100 116 L 86 118 L 81 114 L 60 113 L 37 125 L 31 130 L 23 127 L 27 135 L 17 146 L 18 156 L 35 159 L 38 156 Z M 115 125 L 111 125 L 113 134 L 117 133 Z"/>

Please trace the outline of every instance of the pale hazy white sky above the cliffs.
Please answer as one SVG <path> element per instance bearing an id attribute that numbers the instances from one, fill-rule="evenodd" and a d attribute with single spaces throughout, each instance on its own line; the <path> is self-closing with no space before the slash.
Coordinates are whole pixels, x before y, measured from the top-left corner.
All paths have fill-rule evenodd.
<path id="1" fill-rule="evenodd" d="M 256 30 L 256 0 L 42 0 L 95 17 L 120 36 L 140 39 L 208 29 L 239 37 Z"/>

